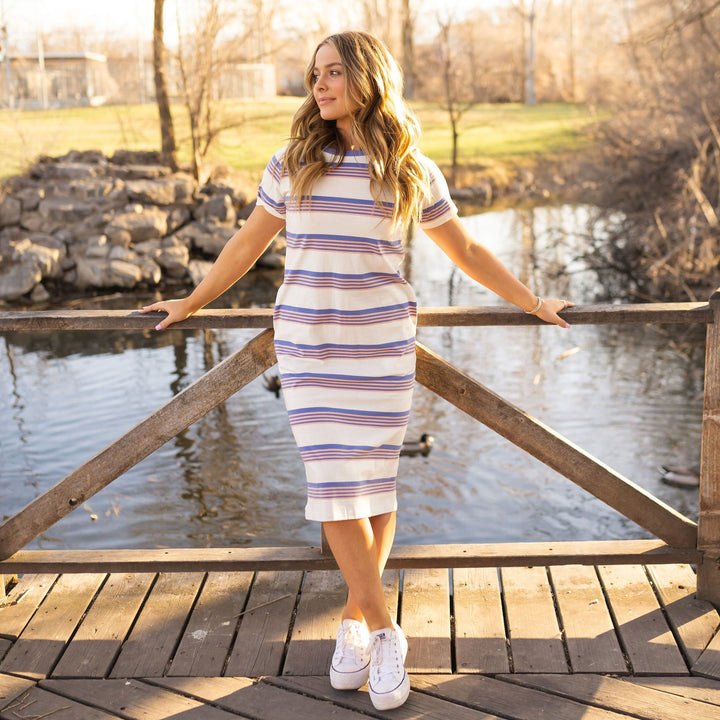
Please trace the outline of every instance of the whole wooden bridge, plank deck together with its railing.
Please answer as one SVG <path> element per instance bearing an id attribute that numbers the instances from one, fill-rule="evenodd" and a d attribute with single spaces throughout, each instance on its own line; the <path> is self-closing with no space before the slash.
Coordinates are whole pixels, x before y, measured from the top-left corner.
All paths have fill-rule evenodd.
<path id="1" fill-rule="evenodd" d="M 410 699 L 331 689 L 344 603 L 327 550 L 24 547 L 275 363 L 271 311 L 185 328 L 262 330 L 0 525 L 0 718 L 720 716 L 720 294 L 584 306 L 572 324 L 704 324 L 698 522 L 418 346 L 417 379 L 648 530 L 654 540 L 396 546 L 386 598 L 410 638 Z M 429 308 L 421 325 L 531 325 Z M 4 312 L 0 331 L 148 330 L 128 312 Z"/>

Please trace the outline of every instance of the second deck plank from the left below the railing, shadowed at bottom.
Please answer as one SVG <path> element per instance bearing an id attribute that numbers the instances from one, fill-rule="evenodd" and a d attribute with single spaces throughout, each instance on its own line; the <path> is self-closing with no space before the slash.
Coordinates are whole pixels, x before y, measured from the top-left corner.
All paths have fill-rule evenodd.
<path id="1" fill-rule="evenodd" d="M 104 575 L 63 575 L 0 663 L 0 672 L 43 678 L 65 649 Z"/>

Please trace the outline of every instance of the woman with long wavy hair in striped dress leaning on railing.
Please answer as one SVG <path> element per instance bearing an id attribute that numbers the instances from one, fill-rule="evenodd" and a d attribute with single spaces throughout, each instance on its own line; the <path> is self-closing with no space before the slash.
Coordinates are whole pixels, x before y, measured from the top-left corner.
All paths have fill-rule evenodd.
<path id="1" fill-rule="evenodd" d="M 154 303 L 158 330 L 183 320 L 247 272 L 283 227 L 284 282 L 275 349 L 303 458 L 306 516 L 323 523 L 348 585 L 330 680 L 369 683 L 375 707 L 407 699 L 407 641 L 390 617 L 381 574 L 395 535 L 395 479 L 415 377 L 416 303 L 399 272 L 417 223 L 468 275 L 543 320 L 572 303 L 537 297 L 475 242 L 419 129 L 385 46 L 362 32 L 332 35 L 307 70 L 310 94 L 291 140 L 268 164 L 257 206 L 187 297 Z"/>

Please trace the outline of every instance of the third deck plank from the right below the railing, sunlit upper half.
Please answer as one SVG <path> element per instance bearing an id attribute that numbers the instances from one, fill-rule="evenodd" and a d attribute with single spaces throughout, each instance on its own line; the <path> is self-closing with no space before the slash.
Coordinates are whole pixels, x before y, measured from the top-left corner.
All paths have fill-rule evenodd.
<path id="1" fill-rule="evenodd" d="M 550 575 L 573 672 L 627 673 L 595 568 L 565 565 Z"/>

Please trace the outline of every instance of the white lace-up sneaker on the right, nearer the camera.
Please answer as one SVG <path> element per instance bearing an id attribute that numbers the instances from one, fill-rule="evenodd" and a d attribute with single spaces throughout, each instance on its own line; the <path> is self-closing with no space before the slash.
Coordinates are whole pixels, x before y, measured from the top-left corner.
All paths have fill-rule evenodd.
<path id="1" fill-rule="evenodd" d="M 370 633 L 370 699 L 376 710 L 400 707 L 410 694 L 407 639 L 398 625 Z"/>

